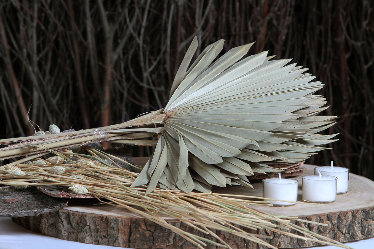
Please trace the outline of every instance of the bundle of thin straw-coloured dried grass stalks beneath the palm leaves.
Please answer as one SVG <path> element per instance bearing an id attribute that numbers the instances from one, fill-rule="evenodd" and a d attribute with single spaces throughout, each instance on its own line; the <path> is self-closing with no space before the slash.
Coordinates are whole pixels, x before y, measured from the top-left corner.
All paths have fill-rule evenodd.
<path id="1" fill-rule="evenodd" d="M 214 233 L 215 230 L 228 232 L 269 248 L 276 248 L 261 238 L 266 236 L 257 234 L 257 228 L 266 228 L 311 242 L 349 248 L 307 231 L 293 224 L 292 221 L 319 223 L 300 220 L 297 217 L 266 214 L 251 208 L 251 205 L 270 205 L 259 197 L 250 197 L 251 200 L 248 200 L 248 196 L 234 194 L 187 194 L 180 190 L 160 188 L 146 195 L 146 186 L 131 187 L 138 174 L 120 168 L 116 164 L 116 160 L 122 161 L 120 158 L 92 147 L 85 147 L 85 150 L 89 152 L 88 155 L 64 150 L 55 152 L 56 156 L 51 157 L 52 159 L 37 158 L 17 166 L 1 166 L 0 183 L 12 186 L 55 185 L 79 196 L 92 194 L 101 202 L 126 208 L 169 228 L 199 248 L 206 246 L 206 243 L 231 248 Z M 56 158 L 59 159 L 58 165 L 55 162 Z M 210 234 L 212 239 L 174 227 L 166 222 L 164 217 L 180 220 L 198 231 Z M 253 233 L 243 231 L 240 227 L 253 229 Z M 291 233 L 290 230 L 293 232 Z"/>

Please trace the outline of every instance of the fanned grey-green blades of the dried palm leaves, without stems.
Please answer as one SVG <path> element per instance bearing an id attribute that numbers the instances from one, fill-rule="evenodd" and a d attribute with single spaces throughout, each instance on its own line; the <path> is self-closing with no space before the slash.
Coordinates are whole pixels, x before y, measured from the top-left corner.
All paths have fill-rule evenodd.
<path id="1" fill-rule="evenodd" d="M 168 137 L 166 147 L 175 149 L 168 157 L 178 157 L 181 140 L 186 145 L 189 167 L 200 176 L 195 183 L 202 178 L 204 184 L 226 186 L 230 178 L 251 175 L 253 169 L 277 171 L 266 164 L 303 161 L 319 146 L 334 141 L 329 140 L 333 136 L 313 146 L 309 141 L 312 134 L 334 123 L 334 117 L 315 116 L 324 105 L 313 95 L 322 88 L 321 82 L 310 82 L 314 77 L 295 64 L 285 66 L 289 60 L 267 60 L 266 52 L 240 60 L 249 46 L 230 50 L 198 76 L 190 75 L 199 65 L 194 63 L 184 78 L 174 81 L 177 90 L 164 110 L 161 136 Z M 209 55 L 214 52 L 210 46 L 199 63 L 211 62 Z M 166 180 L 177 182 L 177 175 L 171 176 Z"/>

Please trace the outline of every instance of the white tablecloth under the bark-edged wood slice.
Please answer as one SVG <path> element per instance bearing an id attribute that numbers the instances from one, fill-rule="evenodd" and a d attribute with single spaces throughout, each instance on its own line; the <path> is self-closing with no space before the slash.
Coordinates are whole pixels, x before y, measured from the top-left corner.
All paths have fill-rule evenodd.
<path id="1" fill-rule="evenodd" d="M 355 249 L 373 249 L 374 237 L 345 244 Z M 319 246 L 313 248 L 337 249 L 338 247 Z M 90 245 L 56 239 L 31 232 L 30 230 L 17 225 L 8 217 L 0 217 L 0 249 L 118 249 L 118 247 Z"/>

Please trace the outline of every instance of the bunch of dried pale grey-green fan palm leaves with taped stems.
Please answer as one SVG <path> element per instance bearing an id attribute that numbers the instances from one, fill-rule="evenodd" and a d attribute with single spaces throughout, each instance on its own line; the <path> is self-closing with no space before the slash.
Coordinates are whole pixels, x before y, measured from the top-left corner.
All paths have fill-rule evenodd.
<path id="1" fill-rule="evenodd" d="M 9 145 L 0 158 L 37 157 L 92 141 L 156 145 L 132 187 L 147 184 L 145 194 L 157 186 L 191 193 L 226 184 L 250 187 L 246 176 L 279 171 L 267 164 L 304 161 L 335 141 L 336 134 L 318 134 L 335 117 L 317 116 L 327 108 L 315 95 L 323 84 L 307 69 L 288 65 L 291 59 L 270 60 L 267 52 L 243 58 L 253 43 L 215 60 L 223 44 L 209 45 L 192 62 L 193 39 L 165 108 L 108 127 L 0 140 Z"/>

